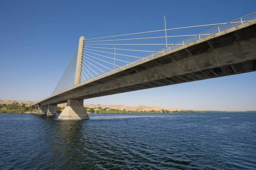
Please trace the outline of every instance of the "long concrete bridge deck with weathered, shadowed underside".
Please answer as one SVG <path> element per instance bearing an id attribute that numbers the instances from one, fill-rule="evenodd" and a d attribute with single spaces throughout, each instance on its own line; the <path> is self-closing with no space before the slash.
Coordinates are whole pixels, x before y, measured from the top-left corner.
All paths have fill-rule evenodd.
<path id="1" fill-rule="evenodd" d="M 35 105 L 256 71 L 256 20 L 201 38 L 111 74 L 82 82 Z"/>

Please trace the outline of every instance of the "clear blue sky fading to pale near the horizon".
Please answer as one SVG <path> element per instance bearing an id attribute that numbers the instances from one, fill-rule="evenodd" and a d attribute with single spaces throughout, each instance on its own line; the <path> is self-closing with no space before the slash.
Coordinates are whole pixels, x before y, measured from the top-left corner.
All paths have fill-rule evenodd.
<path id="1" fill-rule="evenodd" d="M 49 93 L 81 35 L 93 38 L 164 29 L 165 14 L 167 28 L 226 23 L 254 12 L 255 6 L 254 0 L 3 0 L 0 99 L 33 100 Z M 87 99 L 84 103 L 256 110 L 255 78 L 256 72 L 252 72 Z"/>

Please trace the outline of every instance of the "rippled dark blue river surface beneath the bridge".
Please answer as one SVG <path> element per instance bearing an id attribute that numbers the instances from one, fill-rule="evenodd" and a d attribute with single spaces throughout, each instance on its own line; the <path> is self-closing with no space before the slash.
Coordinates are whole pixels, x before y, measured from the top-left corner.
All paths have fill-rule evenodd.
<path id="1" fill-rule="evenodd" d="M 0 113 L 1 170 L 256 170 L 256 113 Z"/>

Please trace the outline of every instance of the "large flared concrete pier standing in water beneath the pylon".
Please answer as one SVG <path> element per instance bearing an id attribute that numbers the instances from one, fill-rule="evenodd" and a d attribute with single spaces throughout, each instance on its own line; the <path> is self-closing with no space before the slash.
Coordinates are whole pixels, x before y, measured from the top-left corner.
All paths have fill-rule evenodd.
<path id="1" fill-rule="evenodd" d="M 67 106 L 61 112 L 58 119 L 63 120 L 81 120 L 90 119 L 86 110 L 84 109 L 84 100 L 68 99 Z"/>

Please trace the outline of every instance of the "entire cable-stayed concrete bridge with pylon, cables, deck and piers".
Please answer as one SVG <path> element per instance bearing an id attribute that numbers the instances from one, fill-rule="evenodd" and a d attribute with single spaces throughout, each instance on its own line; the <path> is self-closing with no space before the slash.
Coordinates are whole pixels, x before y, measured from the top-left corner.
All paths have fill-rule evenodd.
<path id="1" fill-rule="evenodd" d="M 200 34 L 167 36 L 167 31 L 170 30 L 216 25 L 218 26 Z M 166 36 L 113 40 L 121 36 L 161 31 Z M 167 40 L 172 37 L 189 38 L 168 44 Z M 158 40 L 161 38 L 165 43 L 109 43 L 124 40 L 152 42 L 152 39 L 160 42 Z M 105 44 L 99 44 L 102 42 Z M 109 48 L 110 45 L 112 48 Z M 142 49 L 119 48 L 124 45 L 133 48 L 140 46 Z M 155 51 L 158 45 L 164 45 L 165 48 Z M 145 50 L 148 46 L 153 50 Z M 116 53 L 117 50 L 127 53 Z M 132 52 L 137 55 L 147 54 L 135 56 Z M 111 54 L 112 57 L 106 54 Z M 165 22 L 164 30 L 91 39 L 81 37 L 79 46 L 54 91 L 33 106 L 38 115 L 52 116 L 56 115 L 57 104 L 67 102 L 58 119 L 89 119 L 83 107 L 84 99 L 251 71 L 256 71 L 256 12 L 229 23 L 202 26 L 166 29 Z"/>

